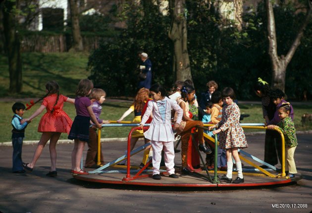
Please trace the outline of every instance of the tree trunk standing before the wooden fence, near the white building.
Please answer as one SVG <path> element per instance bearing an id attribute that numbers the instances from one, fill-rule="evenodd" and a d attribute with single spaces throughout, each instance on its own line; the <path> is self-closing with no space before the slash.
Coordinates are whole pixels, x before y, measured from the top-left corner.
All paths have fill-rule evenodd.
<path id="1" fill-rule="evenodd" d="M 82 38 L 80 35 L 79 13 L 76 0 L 68 0 L 70 6 L 71 30 L 73 35 L 73 46 L 70 51 L 83 51 Z"/>

